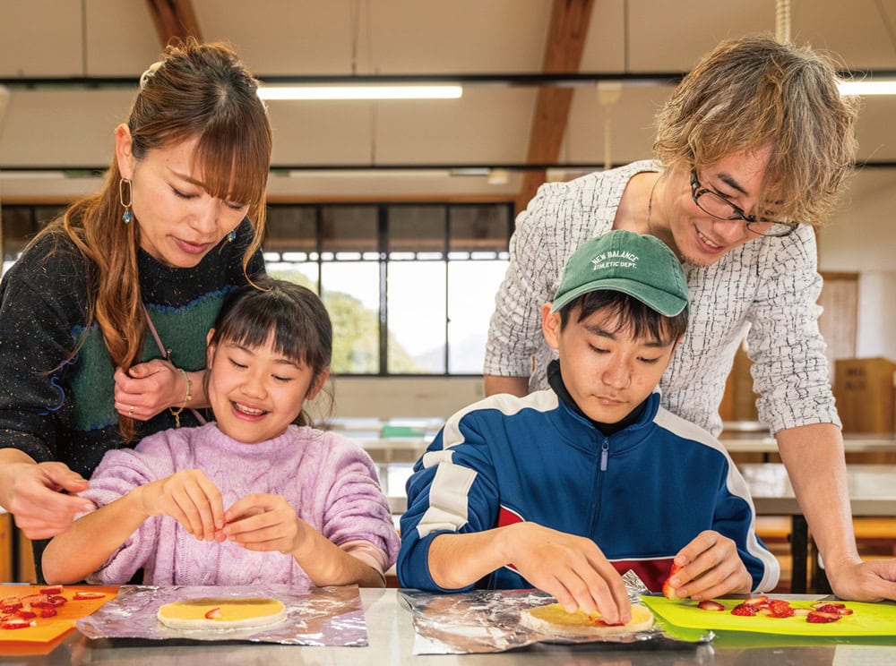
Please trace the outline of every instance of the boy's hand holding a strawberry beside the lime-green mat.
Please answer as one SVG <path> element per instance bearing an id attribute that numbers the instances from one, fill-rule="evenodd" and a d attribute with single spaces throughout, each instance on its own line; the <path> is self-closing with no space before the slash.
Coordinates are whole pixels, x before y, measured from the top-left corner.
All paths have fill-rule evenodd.
<path id="1" fill-rule="evenodd" d="M 753 578 L 727 536 L 705 530 L 675 556 L 681 567 L 669 580 L 676 594 L 694 600 L 713 599 L 728 593 L 749 593 Z"/>

